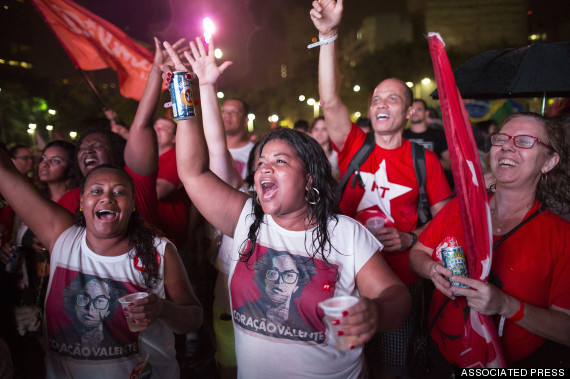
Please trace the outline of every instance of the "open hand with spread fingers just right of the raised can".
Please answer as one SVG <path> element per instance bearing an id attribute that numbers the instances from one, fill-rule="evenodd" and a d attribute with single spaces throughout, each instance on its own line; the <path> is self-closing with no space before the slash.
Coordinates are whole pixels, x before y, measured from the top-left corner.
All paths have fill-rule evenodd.
<path id="1" fill-rule="evenodd" d="M 201 37 L 196 38 L 196 43 L 190 42 L 190 49 L 192 53 L 185 51 L 184 56 L 192 66 L 194 73 L 198 76 L 201 86 L 216 84 L 226 68 L 232 64 L 232 62 L 227 61 L 219 67 L 216 65 L 213 40 L 210 40 L 208 52 L 204 48 Z"/>

